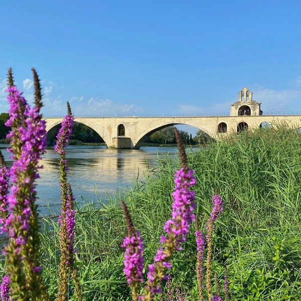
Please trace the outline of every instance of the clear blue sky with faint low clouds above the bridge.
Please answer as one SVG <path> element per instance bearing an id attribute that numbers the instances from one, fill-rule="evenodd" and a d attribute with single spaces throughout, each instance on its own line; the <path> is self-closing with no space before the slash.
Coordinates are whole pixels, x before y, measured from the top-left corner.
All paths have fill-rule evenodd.
<path id="1" fill-rule="evenodd" d="M 45 116 L 229 113 L 244 87 L 264 112 L 301 111 L 301 1 L 3 1 L 6 77 Z"/>

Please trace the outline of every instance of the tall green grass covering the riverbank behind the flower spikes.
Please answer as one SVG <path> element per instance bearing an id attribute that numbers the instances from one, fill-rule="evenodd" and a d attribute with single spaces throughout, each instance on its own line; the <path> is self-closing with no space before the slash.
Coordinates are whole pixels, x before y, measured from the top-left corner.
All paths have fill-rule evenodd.
<path id="1" fill-rule="evenodd" d="M 259 129 L 212 143 L 189 154 L 196 170 L 196 214 L 204 229 L 216 189 L 224 211 L 217 220 L 213 269 L 220 281 L 228 270 L 234 300 L 301 300 L 301 134 L 285 127 Z M 125 194 L 135 227 L 153 262 L 163 226 L 170 218 L 173 175 L 180 167 L 167 156 Z M 57 223 L 45 219 L 43 273 L 56 291 L 59 258 Z M 176 254 L 172 288 L 197 300 L 194 225 L 184 250 Z M 126 229 L 119 199 L 86 204 L 76 216 L 76 264 L 85 300 L 129 300 L 123 276 Z M 216 288 L 214 288 L 216 289 Z M 74 287 L 69 287 L 69 299 Z M 157 298 L 168 300 L 165 293 Z"/>

